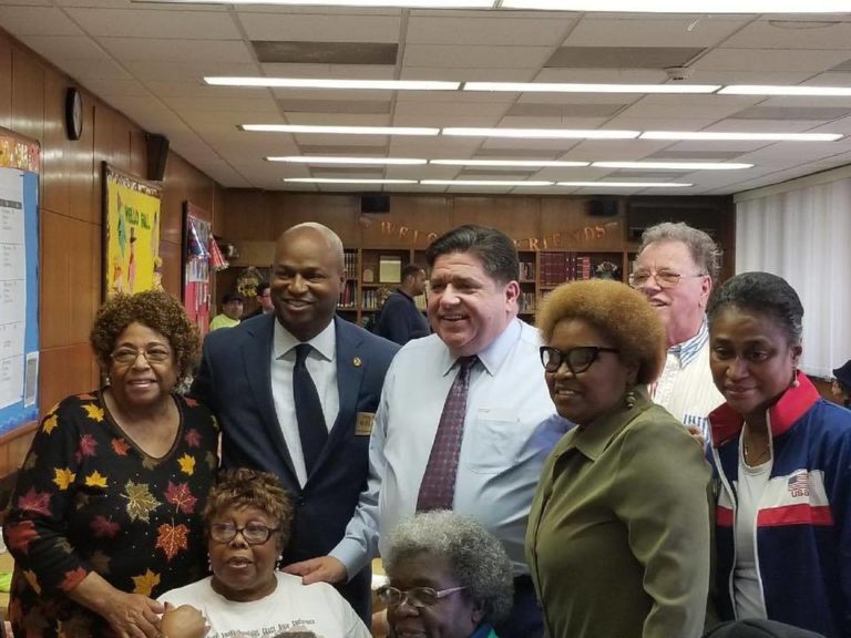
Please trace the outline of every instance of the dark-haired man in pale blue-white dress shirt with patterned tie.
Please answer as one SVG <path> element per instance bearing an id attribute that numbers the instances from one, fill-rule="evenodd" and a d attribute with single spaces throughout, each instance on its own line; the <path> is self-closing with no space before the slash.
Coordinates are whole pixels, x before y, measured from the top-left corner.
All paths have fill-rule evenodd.
<path id="1" fill-rule="evenodd" d="M 330 555 L 290 569 L 306 584 L 344 579 L 376 554 L 377 544 L 383 548 L 399 521 L 421 508 L 421 484 L 459 359 L 475 356 L 451 508 L 482 523 L 514 564 L 514 608 L 498 635 L 534 638 L 543 621 L 524 558 L 526 519 L 543 462 L 570 424 L 550 399 L 537 330 L 516 317 L 513 241 L 499 230 L 461 226 L 434 240 L 427 259 L 434 333 L 408 342 L 388 370 L 370 441 L 369 485 Z"/>

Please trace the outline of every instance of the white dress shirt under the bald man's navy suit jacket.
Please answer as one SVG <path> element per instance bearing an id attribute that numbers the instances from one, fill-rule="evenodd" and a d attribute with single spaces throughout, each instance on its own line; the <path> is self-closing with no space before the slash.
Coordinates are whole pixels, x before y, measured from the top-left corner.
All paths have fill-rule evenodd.
<path id="1" fill-rule="evenodd" d="M 305 454 L 301 451 L 301 436 L 296 420 L 296 403 L 293 400 L 293 369 L 296 367 L 296 346 L 301 343 L 290 332 L 275 321 L 275 340 L 271 348 L 271 398 L 275 413 L 284 433 L 284 441 L 293 460 L 299 484 L 307 483 Z M 316 337 L 306 341 L 312 346 L 305 361 L 314 379 L 319 402 L 322 404 L 325 424 L 330 431 L 340 411 L 340 394 L 337 389 L 337 331 L 334 321 Z"/>

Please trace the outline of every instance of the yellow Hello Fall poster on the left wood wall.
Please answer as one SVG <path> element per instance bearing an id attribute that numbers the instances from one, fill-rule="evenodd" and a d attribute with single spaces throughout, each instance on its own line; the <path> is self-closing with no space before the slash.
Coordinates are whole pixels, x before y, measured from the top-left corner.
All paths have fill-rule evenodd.
<path id="1" fill-rule="evenodd" d="M 161 191 L 104 164 L 106 297 L 162 288 Z"/>

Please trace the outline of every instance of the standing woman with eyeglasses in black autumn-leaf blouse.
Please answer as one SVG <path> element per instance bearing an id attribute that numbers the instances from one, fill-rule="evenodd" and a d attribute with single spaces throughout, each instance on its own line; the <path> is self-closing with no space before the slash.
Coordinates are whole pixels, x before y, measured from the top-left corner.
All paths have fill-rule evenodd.
<path id="1" fill-rule="evenodd" d="M 105 384 L 44 415 L 3 526 L 17 636 L 155 637 L 156 596 L 206 565 L 218 428 L 174 392 L 197 329 L 166 292 L 116 295 L 90 341 Z"/>

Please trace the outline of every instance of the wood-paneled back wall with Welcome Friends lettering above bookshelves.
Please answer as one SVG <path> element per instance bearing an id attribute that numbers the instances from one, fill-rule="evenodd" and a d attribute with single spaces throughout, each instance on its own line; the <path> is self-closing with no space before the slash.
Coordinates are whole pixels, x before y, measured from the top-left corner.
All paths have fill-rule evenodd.
<path id="1" fill-rule="evenodd" d="M 517 241 L 520 250 L 630 250 L 627 238 L 629 204 L 618 199 L 618 213 L 592 216 L 583 196 L 391 195 L 390 212 L 361 214 L 359 195 L 304 194 L 225 189 L 216 235 L 242 243 L 274 241 L 301 222 L 332 228 L 347 247 L 426 248 L 435 235 L 461 224 L 499 228 Z M 727 197 L 667 197 L 666 209 L 699 205 L 710 210 L 707 227 L 717 229 L 720 244 L 732 254 L 732 204 Z M 725 264 L 732 272 L 732 261 Z"/>

